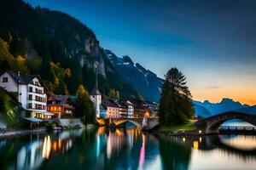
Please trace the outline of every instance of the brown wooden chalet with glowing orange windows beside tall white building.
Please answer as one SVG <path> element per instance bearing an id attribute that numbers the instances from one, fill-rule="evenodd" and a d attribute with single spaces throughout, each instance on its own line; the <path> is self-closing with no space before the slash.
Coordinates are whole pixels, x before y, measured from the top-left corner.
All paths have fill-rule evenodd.
<path id="1" fill-rule="evenodd" d="M 73 116 L 73 100 L 69 95 L 50 95 L 47 99 L 47 111 L 54 113 L 55 118 Z"/>

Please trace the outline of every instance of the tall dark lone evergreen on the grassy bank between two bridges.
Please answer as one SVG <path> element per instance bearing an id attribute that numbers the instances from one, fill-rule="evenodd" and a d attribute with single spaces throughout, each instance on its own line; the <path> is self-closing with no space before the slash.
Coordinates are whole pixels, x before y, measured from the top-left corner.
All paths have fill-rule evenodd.
<path id="1" fill-rule="evenodd" d="M 161 124 L 181 124 L 188 122 L 188 119 L 194 115 L 192 95 L 185 80 L 186 77 L 177 68 L 167 72 L 160 99 Z"/>

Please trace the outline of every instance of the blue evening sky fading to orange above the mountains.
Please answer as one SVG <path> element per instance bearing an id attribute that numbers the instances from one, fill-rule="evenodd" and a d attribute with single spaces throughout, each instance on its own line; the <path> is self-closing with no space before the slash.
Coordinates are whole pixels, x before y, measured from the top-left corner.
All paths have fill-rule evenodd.
<path id="1" fill-rule="evenodd" d="M 26 0 L 80 20 L 100 45 L 164 77 L 177 67 L 196 100 L 256 105 L 256 1 Z"/>

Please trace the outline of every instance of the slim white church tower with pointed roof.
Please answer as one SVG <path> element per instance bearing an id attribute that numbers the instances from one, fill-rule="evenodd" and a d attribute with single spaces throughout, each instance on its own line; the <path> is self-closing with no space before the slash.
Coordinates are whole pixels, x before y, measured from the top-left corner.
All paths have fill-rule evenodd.
<path id="1" fill-rule="evenodd" d="M 96 118 L 100 117 L 100 105 L 102 104 L 102 94 L 97 88 L 97 85 L 90 93 L 90 100 L 92 101 L 95 111 L 96 111 Z"/>

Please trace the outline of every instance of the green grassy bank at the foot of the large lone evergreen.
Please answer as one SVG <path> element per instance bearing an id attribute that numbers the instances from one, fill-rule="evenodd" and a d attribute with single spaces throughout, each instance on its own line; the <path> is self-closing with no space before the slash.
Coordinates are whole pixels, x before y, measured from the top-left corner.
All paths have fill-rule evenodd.
<path id="1" fill-rule="evenodd" d="M 158 132 L 159 133 L 174 133 L 177 131 L 191 131 L 191 130 L 195 130 L 195 127 L 193 124 L 194 124 L 194 121 L 189 120 L 189 122 L 186 122 L 186 123 L 180 124 L 180 125 L 161 126 L 158 129 Z"/>

